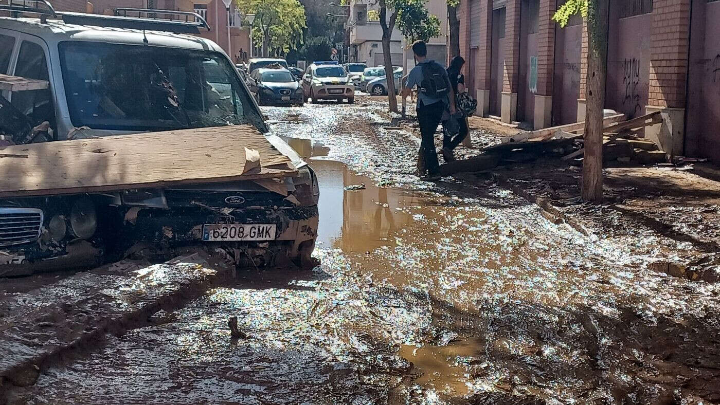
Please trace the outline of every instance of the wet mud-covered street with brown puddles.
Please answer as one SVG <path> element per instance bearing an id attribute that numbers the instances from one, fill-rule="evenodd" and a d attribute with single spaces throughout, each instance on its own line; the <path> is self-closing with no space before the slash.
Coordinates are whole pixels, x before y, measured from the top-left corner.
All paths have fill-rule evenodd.
<path id="1" fill-rule="evenodd" d="M 644 235 L 584 235 L 490 181 L 420 181 L 385 108 L 265 109 L 318 173 L 318 268 L 238 273 L 12 401 L 720 402 L 718 286 L 653 271 L 671 253 Z"/>

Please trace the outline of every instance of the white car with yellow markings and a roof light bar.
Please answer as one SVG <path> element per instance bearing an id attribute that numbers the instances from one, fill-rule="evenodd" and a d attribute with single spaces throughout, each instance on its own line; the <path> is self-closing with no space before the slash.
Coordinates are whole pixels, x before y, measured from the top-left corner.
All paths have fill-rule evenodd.
<path id="1" fill-rule="evenodd" d="M 345 69 L 338 63 L 312 63 L 302 76 L 302 88 L 305 98 L 310 97 L 313 103 L 319 100 L 347 99 L 355 102 L 355 86 Z"/>

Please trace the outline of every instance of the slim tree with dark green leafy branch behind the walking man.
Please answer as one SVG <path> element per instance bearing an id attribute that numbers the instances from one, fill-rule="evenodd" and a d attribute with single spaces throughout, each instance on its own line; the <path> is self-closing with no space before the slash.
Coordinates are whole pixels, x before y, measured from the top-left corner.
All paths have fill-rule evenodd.
<path id="1" fill-rule="evenodd" d="M 405 40 L 412 43 L 416 40 L 428 41 L 440 34 L 440 20 L 428 13 L 427 0 L 378 0 L 379 20 L 382 27 L 382 55 L 387 80 L 387 96 L 390 111 L 397 112 L 397 96 L 395 96 L 395 78 L 392 72 L 390 56 L 390 39 L 397 25 Z M 390 12 L 390 17 L 388 17 Z"/>

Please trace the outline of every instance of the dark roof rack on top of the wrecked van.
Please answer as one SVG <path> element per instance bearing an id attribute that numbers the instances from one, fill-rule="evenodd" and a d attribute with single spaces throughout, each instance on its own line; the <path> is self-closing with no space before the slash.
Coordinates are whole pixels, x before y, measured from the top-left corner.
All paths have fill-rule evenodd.
<path id="1" fill-rule="evenodd" d="M 44 7 L 40 6 L 41 4 Z M 185 34 L 199 34 L 200 28 L 210 31 L 210 24 L 207 24 L 207 20 L 194 12 L 126 7 L 115 9 L 114 15 L 55 12 L 55 9 L 47 0 L 8 0 L 8 4 L 0 4 L 0 10 L 11 12 L 13 17 L 19 17 L 19 14 L 22 13 L 39 14 L 40 21 L 43 23 L 50 16 L 59 17 L 67 24 L 95 25 L 98 27 L 147 29 Z M 129 16 L 128 13 L 137 15 Z M 163 18 L 158 18 L 158 15 L 163 16 Z"/>

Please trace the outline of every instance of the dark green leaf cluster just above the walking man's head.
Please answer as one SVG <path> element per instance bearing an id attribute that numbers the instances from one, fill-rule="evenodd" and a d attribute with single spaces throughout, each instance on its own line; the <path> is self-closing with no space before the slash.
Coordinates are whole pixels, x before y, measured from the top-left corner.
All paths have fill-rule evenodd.
<path id="1" fill-rule="evenodd" d="M 408 43 L 417 40 L 428 41 L 440 35 L 440 19 L 428 13 L 427 0 L 392 0 L 397 11 L 397 29 Z"/>

